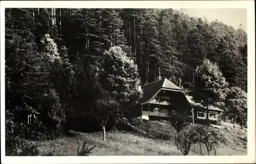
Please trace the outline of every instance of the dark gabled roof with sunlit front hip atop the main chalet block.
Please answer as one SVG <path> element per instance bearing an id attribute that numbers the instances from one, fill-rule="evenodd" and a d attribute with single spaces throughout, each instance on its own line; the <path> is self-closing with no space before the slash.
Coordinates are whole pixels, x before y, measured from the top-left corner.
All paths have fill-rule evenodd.
<path id="1" fill-rule="evenodd" d="M 140 99 L 140 103 L 150 100 L 160 89 L 182 91 L 167 78 L 143 85 L 141 89 L 143 90 L 143 97 Z"/>

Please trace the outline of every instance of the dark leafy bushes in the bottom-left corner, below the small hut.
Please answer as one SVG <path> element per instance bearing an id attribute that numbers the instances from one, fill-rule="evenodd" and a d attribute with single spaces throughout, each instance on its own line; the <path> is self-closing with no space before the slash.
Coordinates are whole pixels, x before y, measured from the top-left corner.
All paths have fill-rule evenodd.
<path id="1" fill-rule="evenodd" d="M 53 140 L 60 136 L 61 131 L 48 129 L 42 124 L 29 125 L 14 121 L 13 114 L 6 111 L 6 155 L 38 155 L 38 146 L 26 140 Z"/>

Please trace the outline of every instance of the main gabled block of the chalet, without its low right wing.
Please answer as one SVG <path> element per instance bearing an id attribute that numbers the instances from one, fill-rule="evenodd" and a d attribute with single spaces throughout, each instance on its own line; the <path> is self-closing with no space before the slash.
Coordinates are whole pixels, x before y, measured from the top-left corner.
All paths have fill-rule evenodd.
<path id="1" fill-rule="evenodd" d="M 191 106 L 182 90 L 166 78 L 143 85 L 141 89 L 143 90 L 143 97 L 140 100 L 142 119 L 149 119 L 150 116 L 186 116 L 186 113 L 191 111 Z"/>

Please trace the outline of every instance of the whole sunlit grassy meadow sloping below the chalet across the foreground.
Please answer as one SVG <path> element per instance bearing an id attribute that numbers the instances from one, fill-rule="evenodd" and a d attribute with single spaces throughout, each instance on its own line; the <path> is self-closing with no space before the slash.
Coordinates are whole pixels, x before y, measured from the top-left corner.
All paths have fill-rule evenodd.
<path id="1" fill-rule="evenodd" d="M 131 123 L 133 131 L 113 130 L 106 132 L 106 141 L 102 132 L 83 133 L 71 131 L 72 136 L 64 136 L 54 141 L 39 141 L 39 155 L 76 156 L 77 148 L 87 141 L 89 147 L 96 146 L 90 155 L 183 155 L 174 145 L 175 130 L 165 121 L 143 121 Z M 148 134 L 148 128 L 150 134 Z M 140 133 L 138 131 L 140 129 Z M 219 129 L 224 130 L 224 129 Z M 217 149 L 217 155 L 246 155 L 246 129 L 225 129 L 227 145 Z M 163 140 L 162 140 L 163 139 Z M 208 155 L 204 145 L 191 146 L 188 155 Z M 210 152 L 215 155 L 215 151 Z"/>

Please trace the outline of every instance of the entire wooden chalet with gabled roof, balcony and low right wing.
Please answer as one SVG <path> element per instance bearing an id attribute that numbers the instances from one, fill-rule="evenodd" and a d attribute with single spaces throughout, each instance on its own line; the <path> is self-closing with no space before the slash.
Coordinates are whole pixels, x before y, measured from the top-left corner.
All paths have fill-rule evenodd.
<path id="1" fill-rule="evenodd" d="M 150 116 L 171 117 L 180 115 L 194 119 L 221 120 L 221 112 L 217 107 L 206 107 L 195 103 L 191 97 L 185 96 L 182 89 L 164 78 L 153 83 L 141 86 L 143 97 L 140 99 L 140 113 L 142 119 L 150 119 Z M 162 98 L 165 97 L 165 98 Z"/>

